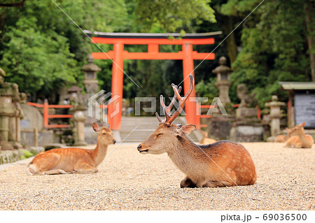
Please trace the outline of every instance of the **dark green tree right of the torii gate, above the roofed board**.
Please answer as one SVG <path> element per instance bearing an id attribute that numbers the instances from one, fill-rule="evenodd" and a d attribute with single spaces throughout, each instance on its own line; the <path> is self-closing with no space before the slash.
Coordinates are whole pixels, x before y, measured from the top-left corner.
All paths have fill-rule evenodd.
<path id="1" fill-rule="evenodd" d="M 225 13 L 251 12 L 260 1 L 230 0 Z M 313 15 L 314 17 L 314 15 Z M 286 100 L 279 81 L 309 81 L 311 70 L 307 54 L 304 1 L 265 1 L 248 17 L 241 31 L 241 52 L 233 64 L 232 91 L 239 83 L 255 92 L 260 106 L 272 94 Z M 232 95 L 232 100 L 237 101 Z"/>

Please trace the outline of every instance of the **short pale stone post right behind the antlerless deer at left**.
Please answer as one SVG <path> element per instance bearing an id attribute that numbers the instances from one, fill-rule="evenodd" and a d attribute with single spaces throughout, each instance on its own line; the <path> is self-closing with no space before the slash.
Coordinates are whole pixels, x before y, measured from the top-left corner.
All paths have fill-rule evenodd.
<path id="1" fill-rule="evenodd" d="M 74 137 L 74 144 L 73 145 L 87 145 L 85 142 L 85 135 L 84 135 L 84 121 L 86 120 L 84 111 L 86 109 L 82 106 L 78 106 L 73 114 L 73 120 L 76 123 L 76 137 Z"/>

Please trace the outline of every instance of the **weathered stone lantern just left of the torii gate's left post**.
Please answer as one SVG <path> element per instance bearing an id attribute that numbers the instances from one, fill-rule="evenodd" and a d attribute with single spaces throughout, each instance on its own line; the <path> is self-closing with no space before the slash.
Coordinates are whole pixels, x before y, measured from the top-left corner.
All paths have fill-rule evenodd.
<path id="1" fill-rule="evenodd" d="M 97 80 L 97 71 L 102 71 L 94 63 L 94 59 L 92 55 L 87 55 L 87 64 L 84 65 L 81 71 L 84 72 L 84 80 L 83 85 L 85 86 L 86 92 L 88 96 L 92 96 L 97 93 L 99 90 L 98 80 Z"/>

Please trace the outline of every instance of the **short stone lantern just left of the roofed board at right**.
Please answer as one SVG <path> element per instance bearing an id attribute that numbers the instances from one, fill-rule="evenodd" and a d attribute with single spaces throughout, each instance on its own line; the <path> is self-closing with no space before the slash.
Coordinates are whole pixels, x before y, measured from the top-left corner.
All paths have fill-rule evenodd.
<path id="1" fill-rule="evenodd" d="M 265 103 L 266 107 L 270 107 L 270 129 L 271 135 L 267 141 L 274 141 L 276 136 L 280 133 L 280 119 L 283 116 L 281 114 L 280 106 L 286 106 L 286 103 L 278 101 L 278 96 L 273 95 L 272 101 Z"/>

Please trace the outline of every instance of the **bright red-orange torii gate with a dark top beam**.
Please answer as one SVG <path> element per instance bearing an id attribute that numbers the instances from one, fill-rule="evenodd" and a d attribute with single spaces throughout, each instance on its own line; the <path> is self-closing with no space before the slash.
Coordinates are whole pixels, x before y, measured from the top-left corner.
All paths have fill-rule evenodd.
<path id="1" fill-rule="evenodd" d="M 188 92 L 190 80 L 188 75 L 194 73 L 194 59 L 214 59 L 214 53 L 193 51 L 193 45 L 214 44 L 214 38 L 222 34 L 221 31 L 204 34 L 137 34 L 137 33 L 103 33 L 85 30 L 85 34 L 92 36 L 92 43 L 113 44 L 113 50 L 106 52 L 92 52 L 94 59 L 113 59 L 113 73 L 111 79 L 111 93 L 119 95 L 109 104 L 108 114 L 117 108 L 119 113 L 109 119 L 111 129 L 120 130 L 120 122 L 123 106 L 123 66 L 124 59 L 181 59 L 183 60 L 183 89 Z M 174 37 L 170 39 L 169 37 Z M 148 52 L 128 52 L 124 45 L 148 45 Z M 159 52 L 159 45 L 182 45 L 179 52 Z M 195 87 L 190 95 L 195 97 Z M 186 121 L 200 128 L 200 119 L 197 118 L 197 104 L 195 101 L 186 101 Z"/>

